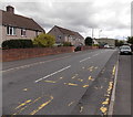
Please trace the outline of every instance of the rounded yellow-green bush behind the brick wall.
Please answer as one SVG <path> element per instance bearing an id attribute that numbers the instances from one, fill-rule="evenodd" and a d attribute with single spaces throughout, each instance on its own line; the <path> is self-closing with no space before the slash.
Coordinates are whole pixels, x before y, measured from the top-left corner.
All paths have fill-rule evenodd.
<path id="1" fill-rule="evenodd" d="M 41 33 L 34 40 L 33 44 L 40 47 L 50 47 L 55 43 L 55 38 L 49 34 Z"/>

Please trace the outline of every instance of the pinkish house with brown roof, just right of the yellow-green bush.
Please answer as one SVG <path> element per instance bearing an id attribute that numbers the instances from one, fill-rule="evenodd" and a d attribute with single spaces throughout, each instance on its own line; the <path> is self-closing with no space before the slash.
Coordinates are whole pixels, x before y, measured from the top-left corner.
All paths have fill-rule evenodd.
<path id="1" fill-rule="evenodd" d="M 84 38 L 79 33 L 54 25 L 48 34 L 55 36 L 55 43 L 71 42 L 72 45 L 84 45 Z"/>

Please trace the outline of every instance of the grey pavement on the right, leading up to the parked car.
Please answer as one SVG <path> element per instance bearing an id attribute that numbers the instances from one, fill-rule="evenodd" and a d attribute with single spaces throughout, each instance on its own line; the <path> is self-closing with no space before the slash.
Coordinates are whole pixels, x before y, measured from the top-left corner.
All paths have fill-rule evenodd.
<path id="1" fill-rule="evenodd" d="M 131 117 L 131 59 L 132 55 L 119 56 L 119 72 L 115 89 L 113 115 Z"/>

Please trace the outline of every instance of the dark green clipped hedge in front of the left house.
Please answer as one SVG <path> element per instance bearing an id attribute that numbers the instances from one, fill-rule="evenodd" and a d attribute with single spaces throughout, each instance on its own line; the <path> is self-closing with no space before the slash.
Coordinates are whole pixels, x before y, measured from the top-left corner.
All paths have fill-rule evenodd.
<path id="1" fill-rule="evenodd" d="M 7 40 L 2 42 L 3 49 L 27 49 L 33 47 L 33 43 L 28 39 Z"/>

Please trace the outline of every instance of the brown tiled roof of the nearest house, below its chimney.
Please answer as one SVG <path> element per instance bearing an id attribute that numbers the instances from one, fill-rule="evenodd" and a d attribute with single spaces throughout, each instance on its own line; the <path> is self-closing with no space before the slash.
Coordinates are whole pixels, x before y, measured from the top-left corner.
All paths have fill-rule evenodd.
<path id="1" fill-rule="evenodd" d="M 44 32 L 44 30 L 33 19 L 7 11 L 2 11 L 2 25 L 11 25 Z"/>

